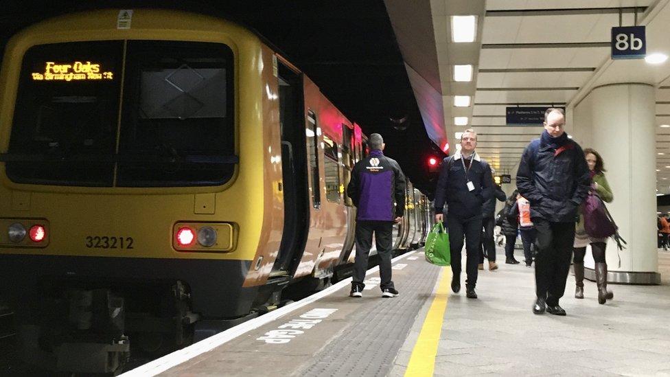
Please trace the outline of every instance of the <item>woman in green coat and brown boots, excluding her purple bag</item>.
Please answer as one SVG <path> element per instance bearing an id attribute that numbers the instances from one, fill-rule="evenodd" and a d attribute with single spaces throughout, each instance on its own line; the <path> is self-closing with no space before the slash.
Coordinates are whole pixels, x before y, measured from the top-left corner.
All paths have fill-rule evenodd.
<path id="1" fill-rule="evenodd" d="M 597 194 L 603 201 L 610 203 L 614 199 L 612 189 L 605 178 L 605 168 L 603 159 L 599 153 L 592 148 L 584 150 L 584 158 L 591 173 L 593 183 L 591 190 Z M 573 258 L 573 268 L 575 269 L 575 298 L 584 298 L 584 255 L 586 246 L 591 245 L 591 252 L 595 262 L 596 284 L 598 285 L 598 302 L 605 304 L 608 299 L 614 298 L 614 294 L 607 290 L 607 262 L 605 262 L 605 247 L 607 247 L 607 238 L 594 238 L 586 233 L 584 227 L 584 214 L 579 211 L 579 221 L 575 226 L 575 243 L 573 248 L 575 256 Z"/>

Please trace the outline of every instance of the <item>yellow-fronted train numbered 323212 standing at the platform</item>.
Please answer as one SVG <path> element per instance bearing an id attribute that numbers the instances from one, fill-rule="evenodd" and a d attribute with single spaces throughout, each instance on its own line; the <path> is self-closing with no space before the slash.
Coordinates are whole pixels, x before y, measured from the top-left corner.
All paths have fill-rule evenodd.
<path id="1" fill-rule="evenodd" d="M 22 30 L 0 74 L 0 295 L 21 358 L 113 374 L 347 277 L 365 139 L 231 21 L 92 10 Z M 398 252 L 432 218 L 406 190 Z"/>

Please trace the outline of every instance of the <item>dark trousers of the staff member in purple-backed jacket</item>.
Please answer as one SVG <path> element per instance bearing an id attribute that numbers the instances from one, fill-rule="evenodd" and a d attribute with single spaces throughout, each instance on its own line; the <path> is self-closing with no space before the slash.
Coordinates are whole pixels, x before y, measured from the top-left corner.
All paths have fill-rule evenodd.
<path id="1" fill-rule="evenodd" d="M 372 247 L 372 233 L 375 233 L 377 254 L 379 255 L 380 288 L 394 288 L 391 280 L 391 253 L 393 252 L 393 221 L 356 221 L 356 260 L 351 284 L 361 290 L 365 287 L 365 271 Z"/>

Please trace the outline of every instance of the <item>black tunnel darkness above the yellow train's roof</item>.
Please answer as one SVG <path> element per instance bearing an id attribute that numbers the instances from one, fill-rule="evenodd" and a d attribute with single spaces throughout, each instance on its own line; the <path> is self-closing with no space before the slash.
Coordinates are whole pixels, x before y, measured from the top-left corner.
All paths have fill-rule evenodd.
<path id="1" fill-rule="evenodd" d="M 290 5 L 288 5 L 290 4 Z M 7 0 L 4 44 L 21 28 L 51 16 L 95 8 L 170 8 L 220 16 L 251 27 L 303 70 L 352 122 L 380 133 L 415 187 L 432 196 L 424 160 L 443 157 L 430 141 L 384 1 L 81 1 Z M 404 130 L 391 118 L 406 117 Z"/>

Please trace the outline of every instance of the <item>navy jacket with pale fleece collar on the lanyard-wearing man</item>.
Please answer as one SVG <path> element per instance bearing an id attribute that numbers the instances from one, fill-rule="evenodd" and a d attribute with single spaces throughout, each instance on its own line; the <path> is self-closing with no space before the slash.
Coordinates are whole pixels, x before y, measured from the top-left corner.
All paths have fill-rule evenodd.
<path id="1" fill-rule="evenodd" d="M 465 176 L 461 152 L 442 161 L 437 189 L 435 190 L 435 213 L 441 214 L 445 203 L 448 205 L 448 216 L 471 218 L 481 216 L 483 203 L 493 196 L 493 176 L 491 167 L 479 155 L 472 156 L 470 171 Z M 471 181 L 474 190 L 467 188 Z"/>

